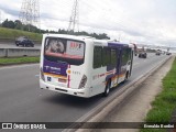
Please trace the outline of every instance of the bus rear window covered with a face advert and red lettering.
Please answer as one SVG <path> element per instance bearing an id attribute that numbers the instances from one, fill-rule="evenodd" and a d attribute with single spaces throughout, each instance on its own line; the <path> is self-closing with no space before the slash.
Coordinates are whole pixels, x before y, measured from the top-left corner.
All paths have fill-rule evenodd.
<path id="1" fill-rule="evenodd" d="M 85 58 L 85 43 L 67 38 L 46 37 L 44 57 L 50 62 L 81 65 Z"/>

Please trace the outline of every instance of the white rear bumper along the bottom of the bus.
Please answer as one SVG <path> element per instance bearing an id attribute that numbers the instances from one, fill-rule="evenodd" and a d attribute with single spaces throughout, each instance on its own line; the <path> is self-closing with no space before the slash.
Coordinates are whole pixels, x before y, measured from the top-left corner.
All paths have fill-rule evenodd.
<path id="1" fill-rule="evenodd" d="M 84 97 L 84 98 L 89 98 L 90 97 L 90 88 L 84 88 L 84 89 L 76 89 L 76 88 L 65 88 L 61 86 L 55 86 L 52 84 L 47 84 L 40 79 L 40 88 L 41 89 L 47 89 L 47 90 L 53 90 L 62 94 L 67 94 L 72 96 L 77 96 L 77 97 Z"/>

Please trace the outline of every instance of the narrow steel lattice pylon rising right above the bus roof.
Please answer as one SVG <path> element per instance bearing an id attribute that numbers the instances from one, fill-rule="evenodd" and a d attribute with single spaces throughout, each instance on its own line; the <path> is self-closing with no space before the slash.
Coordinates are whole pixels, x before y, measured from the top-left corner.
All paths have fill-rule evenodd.
<path id="1" fill-rule="evenodd" d="M 78 10 L 78 0 L 74 1 L 73 10 L 72 10 L 72 15 L 69 19 L 69 25 L 67 32 L 75 32 L 75 29 L 79 32 L 79 10 Z"/>

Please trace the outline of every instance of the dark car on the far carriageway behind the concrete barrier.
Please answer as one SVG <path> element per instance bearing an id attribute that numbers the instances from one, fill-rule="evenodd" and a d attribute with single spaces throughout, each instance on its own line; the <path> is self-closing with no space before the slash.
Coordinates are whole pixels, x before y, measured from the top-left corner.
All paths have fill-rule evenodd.
<path id="1" fill-rule="evenodd" d="M 28 38 L 26 36 L 20 36 L 15 40 L 15 45 L 16 46 L 31 46 L 34 47 L 34 43 Z"/>

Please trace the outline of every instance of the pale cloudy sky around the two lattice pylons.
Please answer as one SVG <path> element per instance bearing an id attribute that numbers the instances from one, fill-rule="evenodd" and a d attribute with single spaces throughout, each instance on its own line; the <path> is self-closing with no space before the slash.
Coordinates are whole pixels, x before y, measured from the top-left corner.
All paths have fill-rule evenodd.
<path id="1" fill-rule="evenodd" d="M 24 0 L 0 0 L 0 18 L 18 20 Z M 38 0 L 41 29 L 68 29 L 74 0 Z M 176 47 L 176 0 L 78 0 L 79 31 L 124 43 Z"/>

